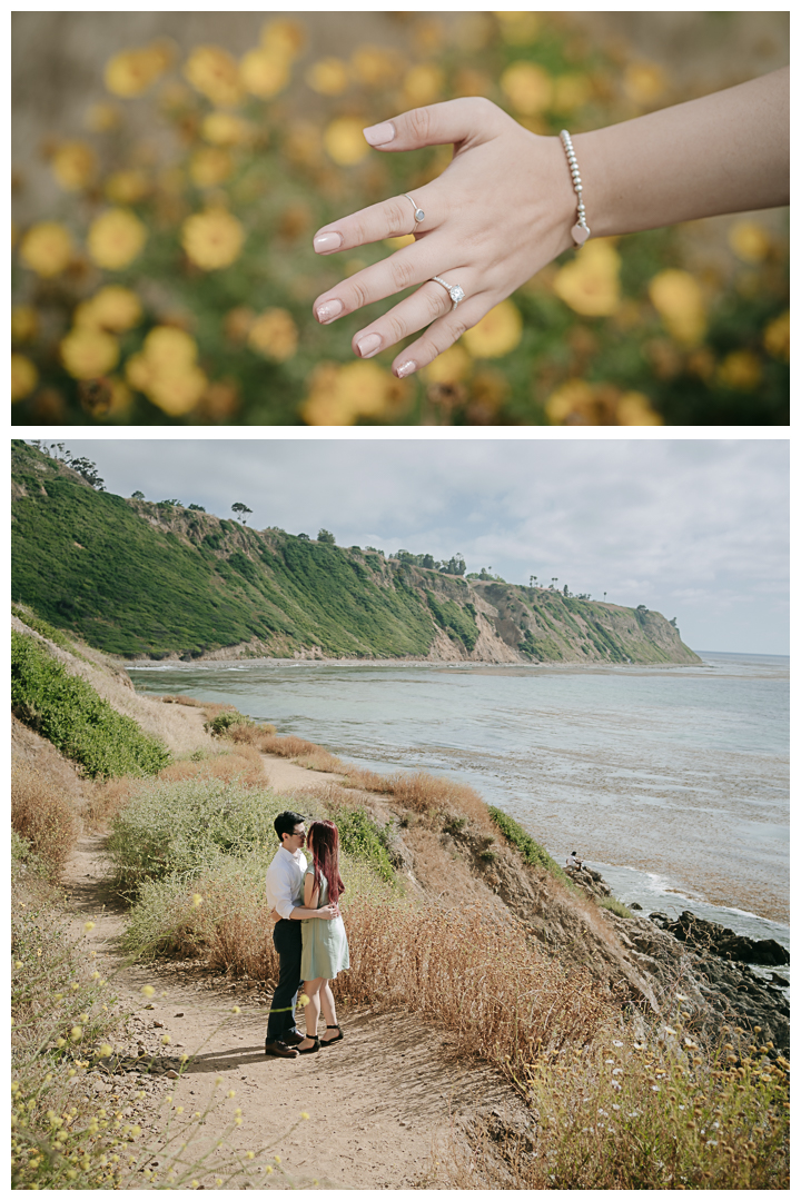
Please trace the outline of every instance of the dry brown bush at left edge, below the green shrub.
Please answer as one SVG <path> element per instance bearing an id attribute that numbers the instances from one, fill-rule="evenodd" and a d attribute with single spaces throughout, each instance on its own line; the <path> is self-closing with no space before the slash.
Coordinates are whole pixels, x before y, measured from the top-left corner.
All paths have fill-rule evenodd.
<path id="1" fill-rule="evenodd" d="M 70 799 L 30 764 L 12 769 L 11 825 L 30 842 L 52 876 L 64 867 L 80 830 Z"/>

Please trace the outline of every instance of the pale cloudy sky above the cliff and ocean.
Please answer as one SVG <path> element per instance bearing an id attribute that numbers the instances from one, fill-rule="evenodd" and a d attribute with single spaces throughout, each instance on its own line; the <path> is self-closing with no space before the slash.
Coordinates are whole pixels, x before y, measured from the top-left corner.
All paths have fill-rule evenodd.
<path id="1" fill-rule="evenodd" d="M 66 440 L 106 488 L 256 530 L 399 548 L 676 617 L 697 651 L 789 653 L 776 441 Z"/>

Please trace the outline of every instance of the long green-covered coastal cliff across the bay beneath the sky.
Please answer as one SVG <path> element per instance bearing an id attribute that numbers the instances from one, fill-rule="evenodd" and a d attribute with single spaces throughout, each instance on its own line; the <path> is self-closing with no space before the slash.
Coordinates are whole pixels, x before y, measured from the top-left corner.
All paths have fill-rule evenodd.
<path id="1" fill-rule="evenodd" d="M 675 621 L 644 605 L 125 500 L 22 442 L 12 538 L 13 599 L 125 658 L 700 662 Z"/>

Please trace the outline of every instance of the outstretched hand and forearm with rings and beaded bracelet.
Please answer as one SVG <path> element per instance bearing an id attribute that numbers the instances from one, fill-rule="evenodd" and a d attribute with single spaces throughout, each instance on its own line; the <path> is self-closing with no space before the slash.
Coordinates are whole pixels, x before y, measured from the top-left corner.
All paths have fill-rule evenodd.
<path id="1" fill-rule="evenodd" d="M 425 329 L 393 363 L 405 377 L 591 235 L 789 204 L 789 83 L 784 67 L 573 136 L 531 133 L 483 96 L 371 125 L 364 136 L 381 154 L 452 144 L 453 159 L 413 196 L 394 196 L 318 229 L 318 255 L 410 233 L 414 243 L 317 297 L 315 317 L 328 324 L 416 288 L 352 341 L 353 353 L 369 359 Z"/>

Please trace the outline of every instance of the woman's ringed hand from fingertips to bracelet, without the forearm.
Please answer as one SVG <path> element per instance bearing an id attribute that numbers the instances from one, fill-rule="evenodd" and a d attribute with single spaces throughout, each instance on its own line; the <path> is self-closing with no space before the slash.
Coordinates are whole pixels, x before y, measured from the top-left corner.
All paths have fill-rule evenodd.
<path id="1" fill-rule="evenodd" d="M 414 233 L 381 263 L 343 280 L 315 301 L 329 324 L 364 305 L 417 289 L 353 337 L 363 359 L 425 329 L 393 363 L 396 376 L 426 366 L 476 325 L 496 304 L 573 245 L 576 197 L 557 137 L 518 125 L 489 100 L 468 97 L 418 108 L 365 130 L 381 151 L 454 144 L 450 165 L 414 191 L 414 204 L 395 196 L 324 226 L 315 237 L 321 255 Z M 416 222 L 414 205 L 425 213 Z M 590 216 L 590 223 L 592 223 Z M 452 305 L 441 276 L 465 299 Z"/>

